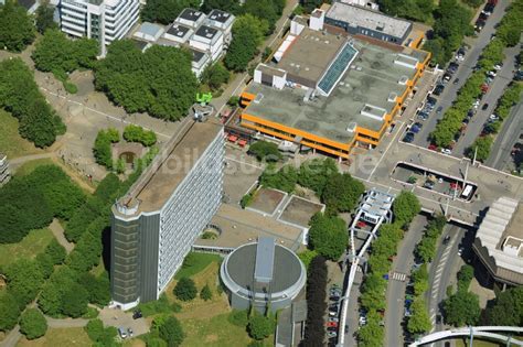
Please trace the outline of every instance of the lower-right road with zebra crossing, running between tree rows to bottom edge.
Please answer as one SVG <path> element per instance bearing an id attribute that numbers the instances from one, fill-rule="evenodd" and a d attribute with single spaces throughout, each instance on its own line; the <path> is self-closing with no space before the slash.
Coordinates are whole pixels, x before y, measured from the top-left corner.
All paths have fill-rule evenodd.
<path id="1" fill-rule="evenodd" d="M 399 252 L 393 263 L 393 273 L 410 273 L 414 263 L 414 249 L 423 237 L 424 227 L 427 225 L 427 218 L 418 215 L 414 218 L 408 231 L 405 234 Z M 387 311 L 385 313 L 385 345 L 391 347 L 403 346 L 403 326 L 405 289 L 408 276 L 404 281 L 391 279 L 387 288 Z"/>

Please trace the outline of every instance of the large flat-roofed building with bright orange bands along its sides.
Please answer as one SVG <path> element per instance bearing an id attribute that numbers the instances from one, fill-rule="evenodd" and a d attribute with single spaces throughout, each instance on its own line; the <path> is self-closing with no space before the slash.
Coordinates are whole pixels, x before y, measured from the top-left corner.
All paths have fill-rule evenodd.
<path id="1" fill-rule="evenodd" d="M 348 159 L 354 147 L 377 145 L 430 54 L 351 36 L 323 24 L 323 11 L 312 14 L 309 24 L 296 17 L 271 62 L 257 66 L 242 93 L 241 124 Z"/>

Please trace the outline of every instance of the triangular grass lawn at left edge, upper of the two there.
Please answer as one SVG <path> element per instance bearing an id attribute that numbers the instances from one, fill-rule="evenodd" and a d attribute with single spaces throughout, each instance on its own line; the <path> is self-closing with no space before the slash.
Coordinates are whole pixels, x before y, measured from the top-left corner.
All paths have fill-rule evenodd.
<path id="1" fill-rule="evenodd" d="M 34 144 L 22 139 L 18 133 L 18 119 L 9 112 L 0 109 L 0 152 L 9 159 L 29 154 L 44 153 L 44 150 L 35 148 Z"/>

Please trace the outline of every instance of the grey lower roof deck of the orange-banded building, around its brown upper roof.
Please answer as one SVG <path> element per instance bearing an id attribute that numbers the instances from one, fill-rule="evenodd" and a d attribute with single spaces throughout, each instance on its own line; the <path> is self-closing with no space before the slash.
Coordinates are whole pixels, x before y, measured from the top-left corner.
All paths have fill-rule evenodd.
<path id="1" fill-rule="evenodd" d="M 321 34 L 321 36 L 327 41 L 338 40 L 332 34 Z M 321 56 L 322 52 L 317 52 L 316 40 L 311 42 L 314 43 L 306 45 L 308 50 L 303 48 L 300 54 Z M 351 141 L 354 134 L 346 129 L 353 128 L 354 123 L 378 131 L 383 126 L 383 119 L 361 115 L 361 111 L 364 108 L 369 109 L 366 106 L 371 107 L 369 113 L 392 111 L 395 101 L 389 101 L 389 98 L 401 97 L 407 89 L 406 85 L 398 82 L 412 79 L 416 73 L 415 68 L 396 64 L 395 61 L 399 53 L 412 57 L 415 55 L 410 52 L 413 50 L 398 52 L 365 40 L 351 39 L 350 42 L 359 53 L 329 97 L 319 96 L 317 93 L 312 100 L 303 101 L 307 91 L 301 88 L 285 87 L 279 90 L 252 83 L 246 91 L 259 95 L 258 102 L 250 102 L 244 113 L 340 143 Z M 295 50 L 295 46 L 289 50 Z M 423 62 L 424 54 L 426 55 L 426 53 L 419 53 L 418 61 Z M 325 71 L 330 59 L 324 59 L 323 64 L 323 71 Z M 271 66 L 285 69 L 280 64 L 271 63 Z"/>

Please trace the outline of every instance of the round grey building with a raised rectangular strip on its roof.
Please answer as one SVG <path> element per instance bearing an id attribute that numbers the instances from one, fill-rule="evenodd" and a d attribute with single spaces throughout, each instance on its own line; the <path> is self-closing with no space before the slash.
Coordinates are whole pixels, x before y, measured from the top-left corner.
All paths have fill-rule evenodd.
<path id="1" fill-rule="evenodd" d="M 260 237 L 231 252 L 220 276 L 234 308 L 254 306 L 265 313 L 268 306 L 273 312 L 290 306 L 306 284 L 307 271 L 290 249 Z"/>

